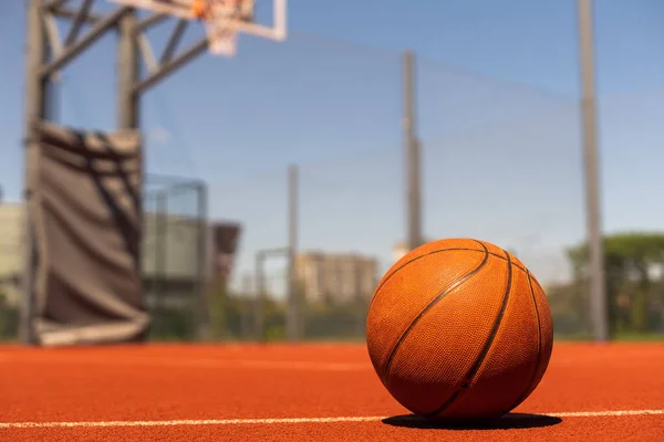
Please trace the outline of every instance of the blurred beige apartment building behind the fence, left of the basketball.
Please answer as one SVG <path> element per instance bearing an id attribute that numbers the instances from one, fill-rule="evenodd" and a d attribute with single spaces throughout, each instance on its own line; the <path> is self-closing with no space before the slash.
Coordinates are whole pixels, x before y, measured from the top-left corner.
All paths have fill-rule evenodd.
<path id="1" fill-rule="evenodd" d="M 311 303 L 369 299 L 377 283 L 378 261 L 359 254 L 301 253 L 295 275 Z"/>

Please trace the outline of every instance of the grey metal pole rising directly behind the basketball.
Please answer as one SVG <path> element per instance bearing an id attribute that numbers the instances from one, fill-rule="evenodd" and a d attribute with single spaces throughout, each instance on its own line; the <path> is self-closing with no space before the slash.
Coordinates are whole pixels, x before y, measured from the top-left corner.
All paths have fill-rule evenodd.
<path id="1" fill-rule="evenodd" d="M 415 129 L 415 55 L 404 53 L 404 141 L 406 164 L 406 243 L 409 250 L 422 244 L 422 194 L 419 143 Z"/>

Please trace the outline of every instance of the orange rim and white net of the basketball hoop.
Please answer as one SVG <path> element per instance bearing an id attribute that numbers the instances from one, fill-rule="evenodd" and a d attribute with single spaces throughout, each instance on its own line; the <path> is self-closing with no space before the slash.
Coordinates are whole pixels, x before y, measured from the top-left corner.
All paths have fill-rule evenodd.
<path id="1" fill-rule="evenodd" d="M 215 54 L 235 55 L 235 22 L 251 20 L 253 0 L 194 0 L 191 13 L 205 23 L 209 50 Z"/>

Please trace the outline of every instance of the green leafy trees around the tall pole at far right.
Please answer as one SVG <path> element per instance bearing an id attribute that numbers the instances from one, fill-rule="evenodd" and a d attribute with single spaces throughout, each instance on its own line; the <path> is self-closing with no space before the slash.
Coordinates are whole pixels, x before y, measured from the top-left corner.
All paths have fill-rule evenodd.
<path id="1" fill-rule="evenodd" d="M 609 316 L 613 335 L 645 334 L 664 324 L 664 283 L 652 275 L 664 264 L 664 233 L 625 232 L 603 239 Z M 575 284 L 588 284 L 588 245 L 568 251 Z"/>

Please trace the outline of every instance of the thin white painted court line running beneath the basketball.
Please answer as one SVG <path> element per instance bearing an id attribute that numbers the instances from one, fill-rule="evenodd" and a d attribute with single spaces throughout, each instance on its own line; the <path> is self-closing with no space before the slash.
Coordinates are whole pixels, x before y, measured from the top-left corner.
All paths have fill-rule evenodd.
<path id="1" fill-rule="evenodd" d="M 604 418 L 623 415 L 664 415 L 664 410 L 615 410 L 615 411 L 571 411 L 561 413 L 541 413 L 558 418 Z M 43 429 L 43 428 L 108 428 L 108 427 L 198 427 L 198 425 L 250 425 L 274 423 L 338 423 L 376 422 L 387 417 L 346 417 L 346 418 L 283 418 L 283 419 L 209 419 L 174 421 L 107 421 L 107 422 L 0 422 L 1 429 Z"/>

